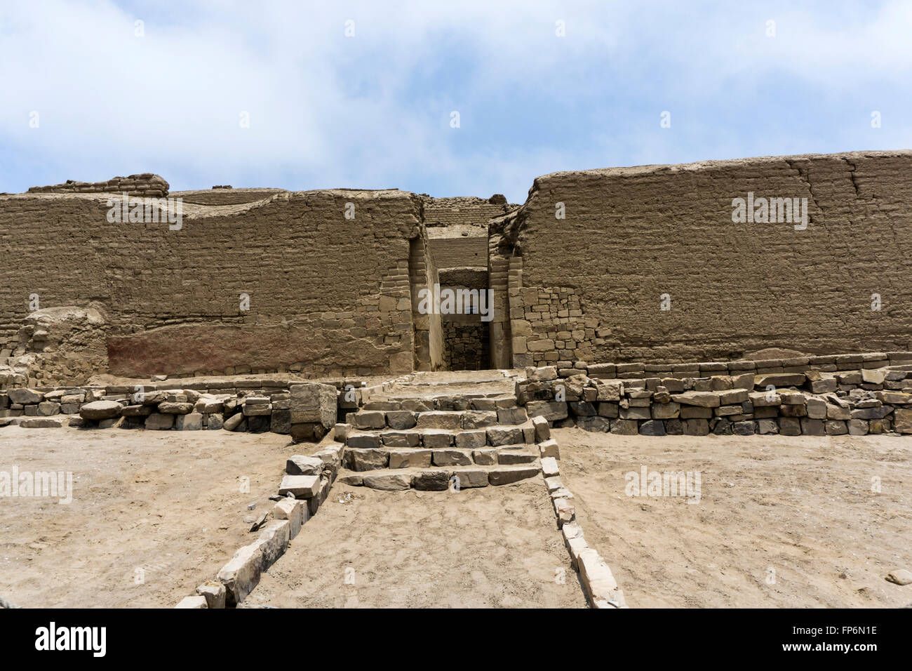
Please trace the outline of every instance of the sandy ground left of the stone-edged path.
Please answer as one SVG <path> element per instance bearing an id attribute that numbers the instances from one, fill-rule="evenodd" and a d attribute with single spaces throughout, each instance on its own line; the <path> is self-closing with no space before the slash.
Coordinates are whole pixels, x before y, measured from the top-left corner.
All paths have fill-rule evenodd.
<path id="1" fill-rule="evenodd" d="M 0 596 L 21 607 L 173 607 L 254 540 L 244 518 L 272 508 L 296 452 L 276 434 L 0 429 L 0 471 L 73 474 L 68 505 L 0 498 Z"/>

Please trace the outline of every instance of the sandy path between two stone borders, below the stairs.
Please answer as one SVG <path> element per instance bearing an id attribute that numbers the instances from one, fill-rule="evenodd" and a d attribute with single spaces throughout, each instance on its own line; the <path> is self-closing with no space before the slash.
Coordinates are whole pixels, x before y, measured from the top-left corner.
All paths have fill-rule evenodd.
<path id="1" fill-rule="evenodd" d="M 337 484 L 243 605 L 585 608 L 586 598 L 539 476 L 458 493 Z"/>

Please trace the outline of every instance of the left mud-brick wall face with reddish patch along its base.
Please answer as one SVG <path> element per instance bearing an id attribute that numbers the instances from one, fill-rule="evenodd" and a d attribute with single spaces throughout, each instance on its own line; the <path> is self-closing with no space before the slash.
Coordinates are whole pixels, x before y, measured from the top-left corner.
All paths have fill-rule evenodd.
<path id="1" fill-rule="evenodd" d="M 107 212 L 93 194 L 0 196 L 0 349 L 37 294 L 41 308 L 103 304 L 116 374 L 411 370 L 411 194 L 184 204 L 180 230 Z"/>

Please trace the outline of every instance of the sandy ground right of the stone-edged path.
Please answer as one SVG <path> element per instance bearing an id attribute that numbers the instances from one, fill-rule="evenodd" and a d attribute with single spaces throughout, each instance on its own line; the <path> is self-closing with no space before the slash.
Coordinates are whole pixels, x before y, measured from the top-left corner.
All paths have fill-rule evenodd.
<path id="1" fill-rule="evenodd" d="M 912 584 L 884 580 L 912 571 L 907 438 L 554 437 L 586 540 L 632 608 L 912 603 Z M 643 466 L 700 471 L 700 502 L 628 497 Z"/>

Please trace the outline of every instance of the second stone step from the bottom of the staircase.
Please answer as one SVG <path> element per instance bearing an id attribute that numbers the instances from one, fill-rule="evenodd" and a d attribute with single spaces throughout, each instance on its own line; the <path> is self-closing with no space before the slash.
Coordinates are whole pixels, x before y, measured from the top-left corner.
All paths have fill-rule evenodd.
<path id="1" fill-rule="evenodd" d="M 393 448 L 352 448 L 347 447 L 343 463 L 348 470 L 364 472 L 378 468 L 409 467 L 456 467 L 456 466 L 514 466 L 517 464 L 534 464 L 539 457 L 539 450 L 527 445 L 503 447 L 479 447 L 476 449 L 459 449 L 444 447 L 429 449 L 423 447 Z"/>

